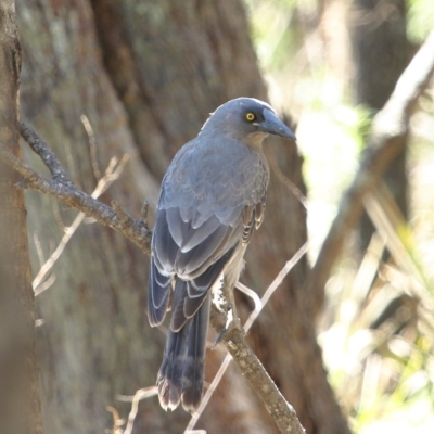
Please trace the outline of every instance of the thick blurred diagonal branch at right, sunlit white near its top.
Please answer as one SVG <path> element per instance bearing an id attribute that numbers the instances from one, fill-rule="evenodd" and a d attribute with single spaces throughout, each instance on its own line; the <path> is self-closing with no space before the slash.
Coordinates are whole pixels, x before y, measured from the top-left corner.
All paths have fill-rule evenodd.
<path id="1" fill-rule="evenodd" d="M 330 228 L 317 261 L 306 283 L 307 291 L 320 294 L 332 267 L 342 252 L 345 237 L 362 212 L 363 197 L 379 180 L 390 162 L 406 145 L 409 118 L 418 98 L 434 73 L 434 31 L 420 48 L 396 84 L 385 106 L 373 119 L 372 130 L 353 183 L 344 193 L 337 215 Z M 316 297 L 317 307 L 322 305 Z"/>

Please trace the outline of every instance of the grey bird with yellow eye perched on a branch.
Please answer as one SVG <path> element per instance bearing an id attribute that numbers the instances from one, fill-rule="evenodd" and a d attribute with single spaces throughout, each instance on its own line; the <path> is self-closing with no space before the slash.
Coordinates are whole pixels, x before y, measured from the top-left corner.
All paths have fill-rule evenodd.
<path id="1" fill-rule="evenodd" d="M 175 155 L 162 181 L 151 241 L 148 317 L 171 311 L 157 374 L 159 404 L 194 411 L 202 400 L 210 293 L 238 282 L 243 256 L 264 219 L 267 135 L 296 140 L 266 102 L 220 105 Z"/>

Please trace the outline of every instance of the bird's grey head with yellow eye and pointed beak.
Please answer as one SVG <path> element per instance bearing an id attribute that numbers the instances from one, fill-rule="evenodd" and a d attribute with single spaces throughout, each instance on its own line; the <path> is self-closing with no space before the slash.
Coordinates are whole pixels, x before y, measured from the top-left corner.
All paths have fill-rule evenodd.
<path id="1" fill-rule="evenodd" d="M 269 104 L 253 98 L 237 98 L 220 105 L 202 131 L 218 131 L 247 145 L 260 144 L 267 135 L 296 140 L 294 132 L 279 119 Z"/>

